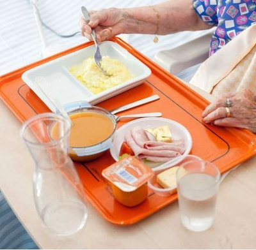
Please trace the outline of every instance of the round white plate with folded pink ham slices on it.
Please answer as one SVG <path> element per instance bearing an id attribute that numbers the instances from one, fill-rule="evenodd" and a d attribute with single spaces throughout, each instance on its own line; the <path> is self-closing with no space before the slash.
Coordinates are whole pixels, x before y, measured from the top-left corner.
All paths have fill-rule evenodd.
<path id="1" fill-rule="evenodd" d="M 159 142 L 150 136 L 146 129 L 168 125 L 172 134 L 172 142 Z M 191 135 L 184 126 L 166 118 L 142 118 L 128 122 L 115 133 L 111 156 L 118 161 L 122 144 L 126 142 L 134 155 L 145 161 L 148 166 L 156 168 L 170 161 L 172 165 L 178 162 L 180 155 L 187 155 L 192 148 Z"/>

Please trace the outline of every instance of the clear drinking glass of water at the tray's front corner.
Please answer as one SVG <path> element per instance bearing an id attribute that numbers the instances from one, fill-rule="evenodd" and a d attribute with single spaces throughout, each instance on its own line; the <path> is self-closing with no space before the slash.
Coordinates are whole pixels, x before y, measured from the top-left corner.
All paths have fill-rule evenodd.
<path id="1" fill-rule="evenodd" d="M 220 182 L 218 168 L 208 161 L 184 162 L 177 170 L 177 189 L 182 224 L 202 232 L 211 228 Z"/>

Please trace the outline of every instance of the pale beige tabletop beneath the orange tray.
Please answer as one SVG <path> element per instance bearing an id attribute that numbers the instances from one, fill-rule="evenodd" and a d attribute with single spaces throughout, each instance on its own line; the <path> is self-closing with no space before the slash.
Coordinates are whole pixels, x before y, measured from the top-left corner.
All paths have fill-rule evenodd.
<path id="1" fill-rule="evenodd" d="M 201 94 L 204 92 L 201 91 Z M 204 94 L 207 96 L 206 94 Z M 44 249 L 225 249 L 256 248 L 256 158 L 221 183 L 212 228 L 189 232 L 173 203 L 132 226 L 115 226 L 88 203 L 86 226 L 72 237 L 54 237 L 36 213 L 33 160 L 19 135 L 20 122 L 0 100 L 0 188 L 17 217 Z"/>

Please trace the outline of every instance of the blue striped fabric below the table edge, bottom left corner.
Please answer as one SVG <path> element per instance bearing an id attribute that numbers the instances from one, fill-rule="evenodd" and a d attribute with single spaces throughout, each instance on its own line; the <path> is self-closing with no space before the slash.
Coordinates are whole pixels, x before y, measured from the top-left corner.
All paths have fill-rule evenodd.
<path id="1" fill-rule="evenodd" d="M 38 249 L 0 191 L 0 249 Z"/>

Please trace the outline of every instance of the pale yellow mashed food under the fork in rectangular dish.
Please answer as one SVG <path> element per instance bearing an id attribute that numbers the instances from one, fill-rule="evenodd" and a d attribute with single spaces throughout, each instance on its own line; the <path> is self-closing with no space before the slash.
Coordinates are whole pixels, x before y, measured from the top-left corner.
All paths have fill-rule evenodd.
<path id="1" fill-rule="evenodd" d="M 92 57 L 84 60 L 80 65 L 71 67 L 69 71 L 93 94 L 99 94 L 132 78 L 124 64 L 116 59 L 104 56 L 100 65 L 111 75 L 110 77 L 102 73 Z"/>

